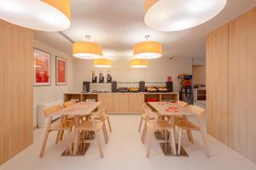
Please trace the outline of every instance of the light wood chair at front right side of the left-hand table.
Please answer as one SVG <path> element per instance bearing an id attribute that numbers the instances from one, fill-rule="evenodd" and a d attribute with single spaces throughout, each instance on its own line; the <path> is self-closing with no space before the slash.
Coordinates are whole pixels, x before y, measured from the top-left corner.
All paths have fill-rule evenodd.
<path id="1" fill-rule="evenodd" d="M 82 132 L 94 132 L 96 135 L 96 142 L 97 142 L 97 146 L 98 146 L 98 150 L 100 152 L 100 156 L 103 157 L 103 151 L 102 151 L 102 145 L 99 139 L 99 131 L 102 129 L 102 133 L 104 135 L 104 139 L 105 139 L 105 143 L 108 143 L 108 139 L 106 137 L 106 133 L 104 132 L 104 128 L 103 128 L 103 121 L 101 119 L 99 119 L 98 117 L 100 117 L 102 114 L 102 111 L 98 111 L 93 113 L 90 116 L 90 120 L 85 120 L 84 122 L 82 122 L 78 127 L 76 127 L 76 131 L 75 131 L 75 139 L 74 139 L 74 147 L 73 147 L 73 156 L 76 155 L 77 152 L 77 148 L 78 148 L 78 144 L 79 144 L 79 136 L 80 133 Z M 83 138 L 84 140 L 84 138 Z"/>

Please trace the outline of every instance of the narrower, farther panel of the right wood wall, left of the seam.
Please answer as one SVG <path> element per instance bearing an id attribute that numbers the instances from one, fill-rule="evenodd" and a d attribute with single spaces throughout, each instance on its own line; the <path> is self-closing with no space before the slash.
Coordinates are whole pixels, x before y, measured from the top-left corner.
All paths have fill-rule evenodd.
<path id="1" fill-rule="evenodd" d="M 207 37 L 207 133 L 229 144 L 229 26 Z"/>

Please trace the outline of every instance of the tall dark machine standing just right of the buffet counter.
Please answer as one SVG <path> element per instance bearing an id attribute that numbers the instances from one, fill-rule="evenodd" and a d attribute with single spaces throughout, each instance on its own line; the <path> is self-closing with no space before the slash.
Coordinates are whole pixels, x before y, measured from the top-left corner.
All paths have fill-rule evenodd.
<path id="1" fill-rule="evenodd" d="M 180 99 L 189 105 L 194 105 L 192 75 L 180 75 L 177 78 L 180 82 Z"/>

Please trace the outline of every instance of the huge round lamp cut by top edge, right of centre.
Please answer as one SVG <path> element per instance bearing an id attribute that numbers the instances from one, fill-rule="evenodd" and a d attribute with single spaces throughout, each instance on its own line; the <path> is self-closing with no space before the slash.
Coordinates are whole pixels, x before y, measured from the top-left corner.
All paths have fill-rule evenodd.
<path id="1" fill-rule="evenodd" d="M 144 21 L 158 31 L 182 31 L 211 20 L 227 0 L 145 0 Z"/>

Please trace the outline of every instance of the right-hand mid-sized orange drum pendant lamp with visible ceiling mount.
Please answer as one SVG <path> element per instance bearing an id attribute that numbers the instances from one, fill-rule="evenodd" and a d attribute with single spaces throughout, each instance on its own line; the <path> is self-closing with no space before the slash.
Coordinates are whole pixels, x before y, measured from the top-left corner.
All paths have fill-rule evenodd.
<path id="1" fill-rule="evenodd" d="M 148 40 L 149 36 L 145 36 Z M 138 42 L 133 48 L 133 55 L 137 59 L 157 59 L 162 56 L 162 44 L 160 42 Z"/>

